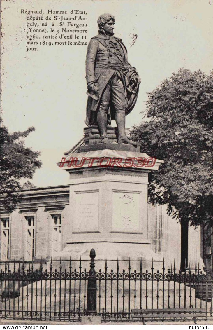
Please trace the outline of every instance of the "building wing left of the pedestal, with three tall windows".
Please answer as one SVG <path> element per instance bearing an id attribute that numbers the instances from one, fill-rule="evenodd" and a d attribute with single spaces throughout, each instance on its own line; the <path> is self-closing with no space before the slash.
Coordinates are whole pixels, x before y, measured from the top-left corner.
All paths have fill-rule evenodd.
<path id="1" fill-rule="evenodd" d="M 64 246 L 63 224 L 69 218 L 69 185 L 21 191 L 12 214 L 1 213 L 1 261 L 49 260 Z"/>

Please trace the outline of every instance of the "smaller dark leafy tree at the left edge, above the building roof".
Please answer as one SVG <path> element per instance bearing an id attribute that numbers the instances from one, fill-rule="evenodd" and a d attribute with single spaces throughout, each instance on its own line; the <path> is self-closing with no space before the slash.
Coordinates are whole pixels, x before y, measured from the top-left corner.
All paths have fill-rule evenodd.
<path id="1" fill-rule="evenodd" d="M 37 159 L 40 152 L 33 151 L 24 145 L 24 138 L 33 131 L 35 131 L 35 128 L 29 127 L 24 132 L 10 134 L 7 127 L 1 127 L 1 203 L 8 212 L 12 212 L 21 200 L 21 195 L 18 192 L 21 189 L 19 180 L 21 178 L 32 179 L 35 171 L 42 165 L 42 162 Z"/>

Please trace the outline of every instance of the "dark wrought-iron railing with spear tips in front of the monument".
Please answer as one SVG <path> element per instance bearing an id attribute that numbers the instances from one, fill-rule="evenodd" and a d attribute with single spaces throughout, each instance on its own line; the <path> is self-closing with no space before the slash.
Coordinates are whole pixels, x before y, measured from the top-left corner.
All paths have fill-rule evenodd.
<path id="1" fill-rule="evenodd" d="M 206 318 L 212 317 L 213 279 L 198 268 L 176 272 L 173 267 L 165 272 L 121 270 L 117 260 L 116 271 L 95 271 L 95 251 L 90 251 L 90 270 L 53 269 L 52 260 L 44 270 L 33 262 L 25 264 L 6 262 L 0 271 L 0 318 L 49 321 L 81 321 L 83 315 L 101 316 L 103 322 L 132 321 L 132 309 L 205 308 Z M 108 261 L 109 263 L 109 261 Z"/>

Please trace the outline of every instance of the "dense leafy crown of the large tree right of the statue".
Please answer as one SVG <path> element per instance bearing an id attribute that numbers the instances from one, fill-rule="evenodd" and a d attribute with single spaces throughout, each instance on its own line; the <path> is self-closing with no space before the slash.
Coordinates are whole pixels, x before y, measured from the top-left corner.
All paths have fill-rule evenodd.
<path id="1" fill-rule="evenodd" d="M 148 93 L 150 121 L 131 138 L 164 164 L 149 174 L 149 202 L 192 225 L 213 224 L 213 72 L 180 69 Z"/>

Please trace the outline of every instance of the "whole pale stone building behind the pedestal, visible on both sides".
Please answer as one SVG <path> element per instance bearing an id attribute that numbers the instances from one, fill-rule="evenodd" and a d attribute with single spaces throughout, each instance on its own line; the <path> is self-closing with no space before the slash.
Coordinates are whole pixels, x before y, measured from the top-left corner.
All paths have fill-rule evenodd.
<path id="1" fill-rule="evenodd" d="M 38 188 L 27 182 L 21 194 L 22 201 L 14 212 L 1 212 L 0 261 L 48 261 L 60 255 L 68 240 L 69 185 Z M 181 226 L 178 220 L 167 215 L 166 205 L 148 205 L 148 240 L 151 249 L 159 258 L 164 258 L 167 268 L 175 258 L 179 270 Z M 212 268 L 211 235 L 200 228 L 189 227 L 188 241 L 188 262 L 191 267 L 196 261 L 200 267 L 204 266 L 204 261 L 207 268 Z"/>

